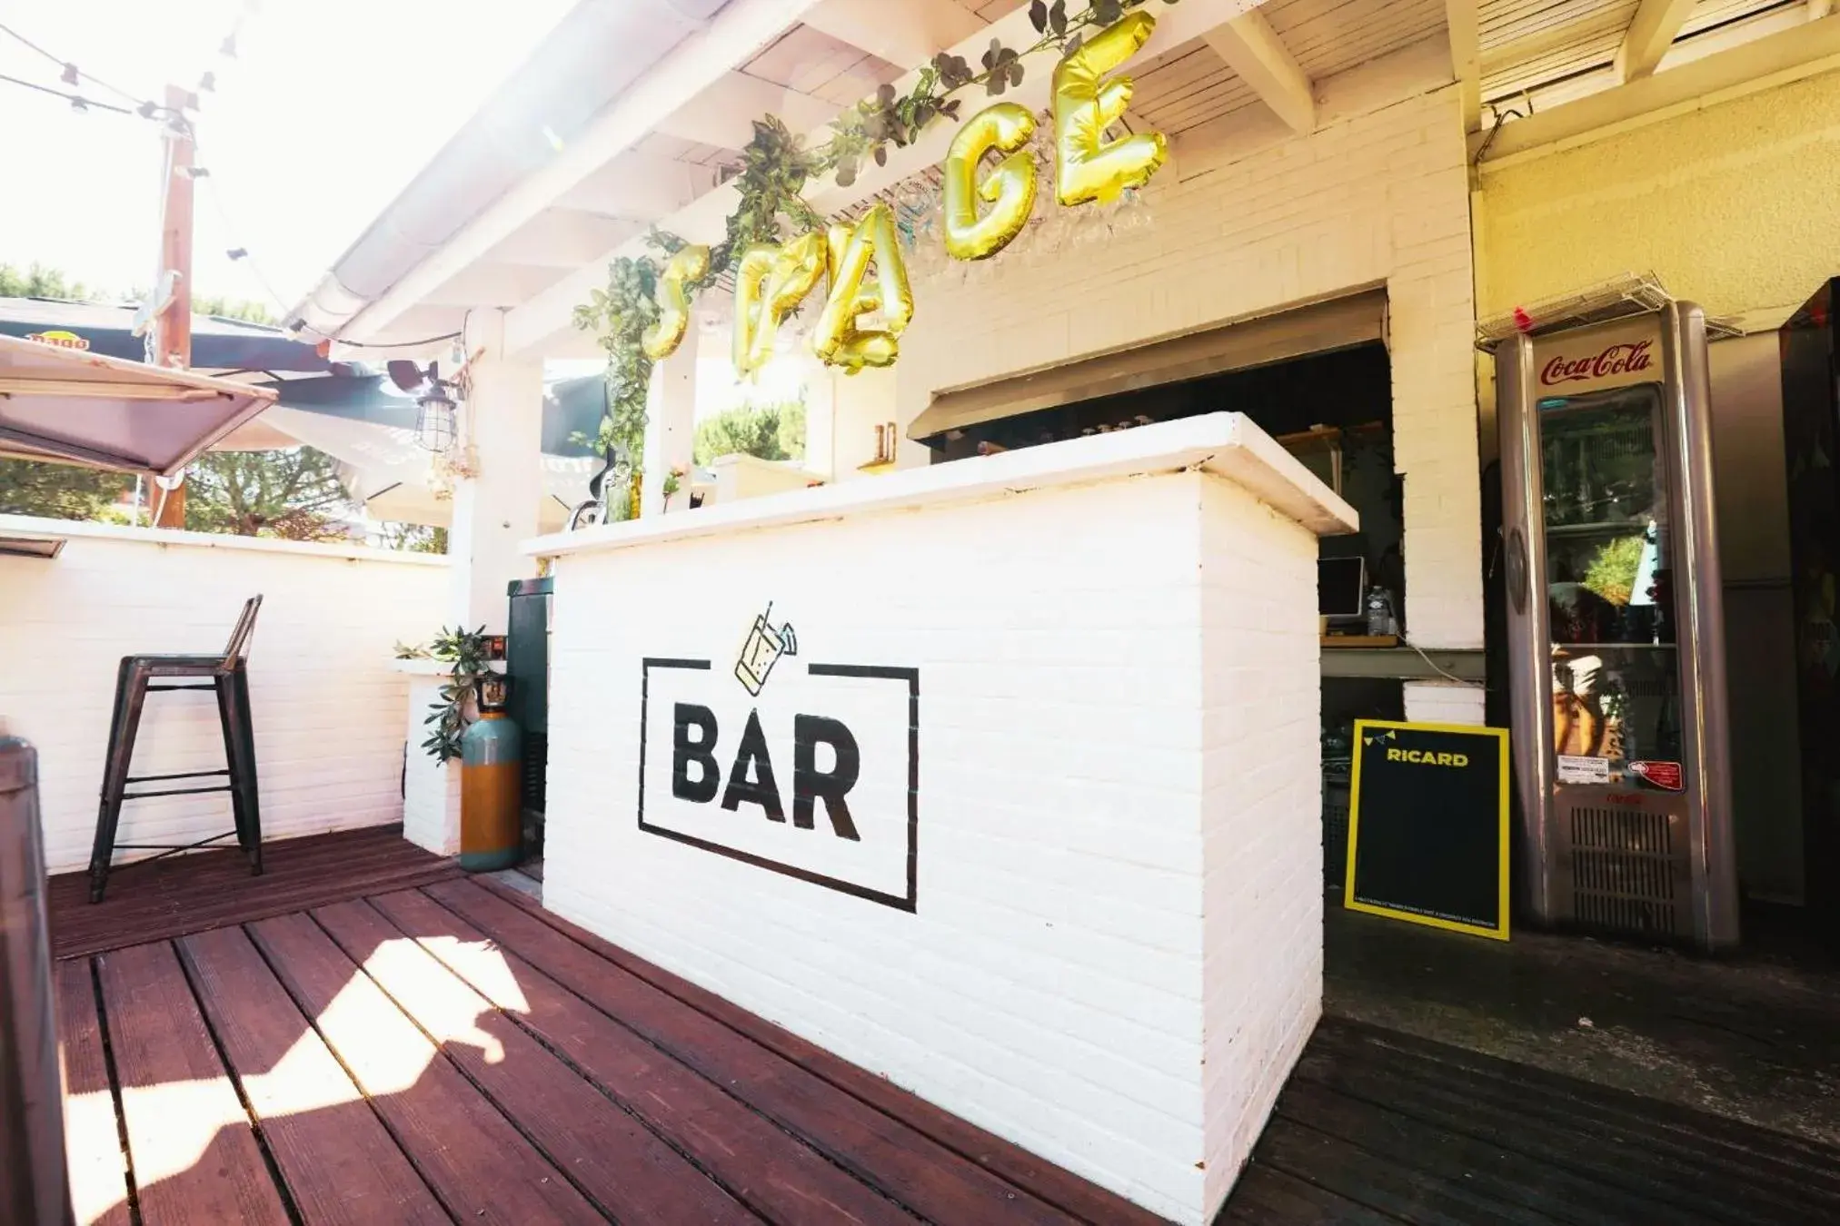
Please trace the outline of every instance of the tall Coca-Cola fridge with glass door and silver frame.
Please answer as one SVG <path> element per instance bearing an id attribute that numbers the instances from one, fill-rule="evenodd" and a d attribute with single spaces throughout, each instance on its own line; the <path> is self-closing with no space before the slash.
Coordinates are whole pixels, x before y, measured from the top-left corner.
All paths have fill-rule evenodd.
<path id="1" fill-rule="evenodd" d="M 1706 316 L 1533 329 L 1494 358 L 1524 906 L 1731 947 Z"/>

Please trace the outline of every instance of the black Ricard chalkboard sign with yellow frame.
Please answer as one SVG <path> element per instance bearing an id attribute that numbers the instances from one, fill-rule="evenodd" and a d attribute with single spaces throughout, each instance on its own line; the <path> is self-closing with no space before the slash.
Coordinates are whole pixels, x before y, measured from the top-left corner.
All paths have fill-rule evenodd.
<path id="1" fill-rule="evenodd" d="M 1507 730 L 1354 722 L 1343 904 L 1507 939 Z"/>

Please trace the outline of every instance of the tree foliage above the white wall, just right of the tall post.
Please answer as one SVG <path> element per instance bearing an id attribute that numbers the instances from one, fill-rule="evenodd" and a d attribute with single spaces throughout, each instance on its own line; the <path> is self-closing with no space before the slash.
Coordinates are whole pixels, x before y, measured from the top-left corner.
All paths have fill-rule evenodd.
<path id="1" fill-rule="evenodd" d="M 339 461 L 311 447 L 206 452 L 186 469 L 186 487 L 191 531 L 337 540 L 355 513 Z"/>

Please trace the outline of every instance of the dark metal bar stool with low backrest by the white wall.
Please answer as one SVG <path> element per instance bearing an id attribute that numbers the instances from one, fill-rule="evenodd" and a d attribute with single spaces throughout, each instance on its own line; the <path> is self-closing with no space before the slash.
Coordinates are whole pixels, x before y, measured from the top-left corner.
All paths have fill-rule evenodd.
<path id="1" fill-rule="evenodd" d="M 195 844 L 120 844 L 123 851 L 158 851 L 147 860 L 164 860 L 180 851 L 193 851 L 236 834 L 237 846 L 248 855 L 252 877 L 261 875 L 261 807 L 256 800 L 256 733 L 248 717 L 248 640 L 256 632 L 256 610 L 261 597 L 252 596 L 243 605 L 243 616 L 230 630 L 230 643 L 221 656 L 121 656 L 116 673 L 114 719 L 109 724 L 109 765 L 103 772 L 103 801 L 96 814 L 96 849 L 90 853 L 90 902 L 101 902 L 109 888 L 109 864 L 116 853 L 116 825 L 121 822 L 121 801 L 151 796 L 195 796 L 201 792 L 230 792 L 230 811 L 236 829 L 201 838 Z M 158 678 L 180 678 L 182 684 L 153 684 Z M 164 776 L 129 776 L 134 759 L 134 733 L 140 732 L 140 711 L 149 693 L 162 689 L 215 689 L 217 719 L 224 730 L 223 770 L 182 770 Z M 228 778 L 213 787 L 173 787 L 153 792 L 129 792 L 129 783 L 169 783 L 173 779 Z"/>

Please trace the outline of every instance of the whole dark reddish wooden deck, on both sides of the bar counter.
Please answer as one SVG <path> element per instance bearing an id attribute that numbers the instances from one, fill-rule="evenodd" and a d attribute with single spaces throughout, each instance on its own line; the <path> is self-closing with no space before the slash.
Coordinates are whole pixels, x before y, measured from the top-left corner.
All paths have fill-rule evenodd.
<path id="1" fill-rule="evenodd" d="M 375 840 L 53 891 L 79 1222 L 1159 1220 Z M 1840 1222 L 1840 1151 L 1328 1018 L 1220 1222 Z"/>

